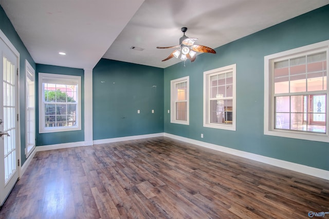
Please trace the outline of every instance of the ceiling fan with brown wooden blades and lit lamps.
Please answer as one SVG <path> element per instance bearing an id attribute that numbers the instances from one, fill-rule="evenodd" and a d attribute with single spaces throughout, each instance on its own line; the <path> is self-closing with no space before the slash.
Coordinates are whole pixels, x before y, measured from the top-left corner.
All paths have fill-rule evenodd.
<path id="1" fill-rule="evenodd" d="M 185 35 L 187 31 L 187 27 L 182 27 L 181 32 L 184 33 L 182 37 L 179 38 L 179 45 L 177 46 L 169 46 L 169 47 L 157 47 L 158 49 L 170 49 L 170 48 L 179 48 L 173 51 L 167 58 L 163 59 L 162 62 L 167 61 L 172 57 L 180 58 L 182 61 L 186 61 L 186 59 L 190 59 L 191 62 L 194 62 L 196 58 L 196 52 L 210 52 L 216 53 L 215 50 L 201 45 L 194 45 L 194 42 L 197 38 L 190 38 Z"/>

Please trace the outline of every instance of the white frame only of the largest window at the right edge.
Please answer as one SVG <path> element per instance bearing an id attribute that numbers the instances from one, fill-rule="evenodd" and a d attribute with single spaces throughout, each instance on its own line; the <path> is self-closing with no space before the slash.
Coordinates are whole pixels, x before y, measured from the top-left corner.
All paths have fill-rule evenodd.
<path id="1" fill-rule="evenodd" d="M 312 54 L 326 51 L 326 71 L 327 71 L 327 90 L 326 90 L 326 116 L 329 117 L 329 41 L 323 41 L 296 49 L 291 49 L 276 54 L 264 56 L 264 134 L 280 137 L 298 138 L 302 140 L 329 142 L 329 123 L 326 122 L 326 133 L 300 132 L 293 130 L 275 129 L 274 125 L 274 62 L 288 57 L 299 56 L 302 54 Z"/>

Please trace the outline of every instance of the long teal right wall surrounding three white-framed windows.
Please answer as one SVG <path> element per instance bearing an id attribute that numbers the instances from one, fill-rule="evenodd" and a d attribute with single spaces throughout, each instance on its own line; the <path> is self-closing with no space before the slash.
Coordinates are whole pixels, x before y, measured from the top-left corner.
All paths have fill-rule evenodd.
<path id="1" fill-rule="evenodd" d="M 228 148 L 329 170 L 329 143 L 264 135 L 264 56 L 329 39 L 329 5 L 198 55 L 194 63 L 165 69 L 165 112 L 170 81 L 190 76 L 190 125 L 170 123 L 165 132 Z M 236 64 L 236 131 L 203 127 L 203 72 Z M 204 138 L 200 138 L 200 134 Z"/>

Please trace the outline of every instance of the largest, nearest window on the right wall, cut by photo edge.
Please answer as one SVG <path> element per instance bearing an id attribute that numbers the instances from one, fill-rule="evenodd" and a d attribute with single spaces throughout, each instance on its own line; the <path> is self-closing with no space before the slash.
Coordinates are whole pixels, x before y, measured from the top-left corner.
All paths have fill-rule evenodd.
<path id="1" fill-rule="evenodd" d="M 329 142 L 329 41 L 265 56 L 264 133 Z"/>

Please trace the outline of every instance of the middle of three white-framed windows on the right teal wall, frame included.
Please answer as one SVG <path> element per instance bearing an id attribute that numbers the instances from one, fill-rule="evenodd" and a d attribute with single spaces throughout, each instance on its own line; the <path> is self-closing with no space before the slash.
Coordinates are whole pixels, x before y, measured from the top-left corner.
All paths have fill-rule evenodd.
<path id="1" fill-rule="evenodd" d="M 204 127 L 235 131 L 236 65 L 204 72 Z"/>

